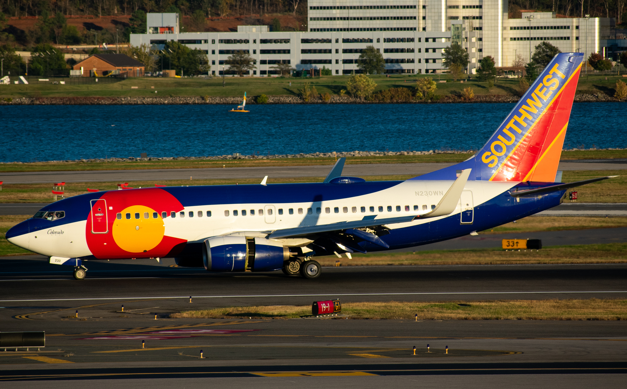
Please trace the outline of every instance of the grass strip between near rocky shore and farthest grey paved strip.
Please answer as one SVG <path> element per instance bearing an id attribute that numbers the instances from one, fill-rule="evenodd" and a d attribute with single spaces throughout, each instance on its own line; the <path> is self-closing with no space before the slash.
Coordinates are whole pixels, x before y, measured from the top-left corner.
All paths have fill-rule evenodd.
<path id="1" fill-rule="evenodd" d="M 441 153 L 430 155 L 386 155 L 347 157 L 346 164 L 372 163 L 459 163 L 472 154 Z M 96 158 L 97 156 L 95 156 Z M 102 156 L 99 156 L 102 158 Z M 562 160 L 567 159 L 611 159 L 627 158 L 623 150 L 562 151 Z M 312 166 L 332 165 L 335 158 L 273 158 L 273 159 L 176 159 L 170 161 L 76 161 L 76 162 L 32 162 L 0 164 L 0 173 L 20 171 L 88 171 L 88 170 L 135 170 L 135 169 L 196 169 L 266 167 L 266 166 Z"/>

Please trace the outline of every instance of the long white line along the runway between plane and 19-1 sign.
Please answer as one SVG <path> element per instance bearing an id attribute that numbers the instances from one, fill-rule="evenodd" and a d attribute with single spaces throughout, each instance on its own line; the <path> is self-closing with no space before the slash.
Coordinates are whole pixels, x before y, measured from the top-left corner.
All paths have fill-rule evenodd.
<path id="1" fill-rule="evenodd" d="M 243 298 L 243 297 L 308 297 L 308 296 L 425 296 L 425 295 L 542 295 L 559 293 L 627 293 L 627 290 L 593 291 L 510 291 L 510 292 L 420 292 L 420 293 L 324 293 L 314 295 L 232 295 L 232 296 L 192 296 L 193 298 Z M 48 298 L 38 300 L 0 300 L 0 303 L 16 301 L 85 301 L 85 300 L 142 300 L 152 298 L 189 298 L 188 296 L 148 296 L 148 297 L 100 297 L 100 298 Z"/>

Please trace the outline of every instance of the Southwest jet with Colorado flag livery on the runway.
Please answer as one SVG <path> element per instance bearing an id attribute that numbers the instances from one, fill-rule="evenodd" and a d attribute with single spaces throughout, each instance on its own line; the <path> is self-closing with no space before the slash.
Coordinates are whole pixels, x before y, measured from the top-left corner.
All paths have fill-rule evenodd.
<path id="1" fill-rule="evenodd" d="M 322 183 L 102 191 L 45 206 L 6 238 L 50 263 L 170 258 L 208 271 L 320 276 L 316 256 L 426 245 L 559 205 L 556 183 L 582 53 L 557 54 L 471 158 L 406 181 L 342 176 Z M 376 109 L 376 108 L 373 108 Z"/>

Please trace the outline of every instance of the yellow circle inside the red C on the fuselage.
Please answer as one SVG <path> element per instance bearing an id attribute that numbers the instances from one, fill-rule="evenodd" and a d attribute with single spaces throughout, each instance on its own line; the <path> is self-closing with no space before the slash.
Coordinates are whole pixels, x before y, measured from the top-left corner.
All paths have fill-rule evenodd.
<path id="1" fill-rule="evenodd" d="M 154 218 L 155 211 L 144 205 L 129 206 L 121 213 L 122 218 L 116 217 L 113 222 L 112 235 L 122 250 L 143 253 L 159 245 L 166 231 L 159 213 Z M 130 219 L 127 219 L 127 215 L 130 215 Z"/>

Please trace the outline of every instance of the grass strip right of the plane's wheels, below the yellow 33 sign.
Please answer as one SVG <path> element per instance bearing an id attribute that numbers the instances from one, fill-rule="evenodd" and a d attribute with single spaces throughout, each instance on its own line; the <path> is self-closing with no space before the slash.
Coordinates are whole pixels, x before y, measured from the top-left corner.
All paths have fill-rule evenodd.
<path id="1" fill-rule="evenodd" d="M 350 260 L 344 257 L 340 259 L 337 256 L 320 256 L 316 257 L 315 260 L 322 266 L 627 263 L 627 243 L 547 246 L 539 251 L 505 251 L 501 248 L 482 248 L 473 250 L 405 251 L 401 253 L 355 253 Z"/>

